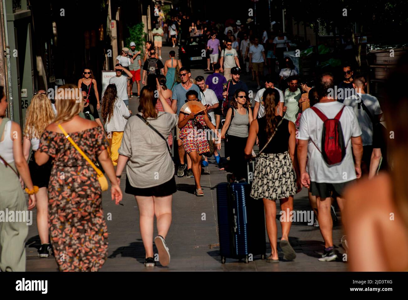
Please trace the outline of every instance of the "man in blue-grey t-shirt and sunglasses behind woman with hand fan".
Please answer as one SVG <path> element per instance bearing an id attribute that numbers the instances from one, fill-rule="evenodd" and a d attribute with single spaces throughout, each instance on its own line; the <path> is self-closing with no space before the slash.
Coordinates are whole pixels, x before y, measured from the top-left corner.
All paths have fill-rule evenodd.
<path id="1" fill-rule="evenodd" d="M 183 104 L 186 103 L 186 93 L 190 90 L 194 90 L 198 93 L 198 100 L 201 102 L 201 95 L 200 95 L 200 88 L 196 85 L 193 84 L 190 81 L 191 78 L 191 71 L 187 67 L 181 67 L 180 68 L 180 79 L 181 83 L 176 84 L 173 87 L 172 91 L 172 101 L 171 101 L 171 108 L 177 113 L 177 116 L 180 114 L 180 109 L 183 106 Z M 184 156 L 186 155 L 186 151 L 184 150 L 182 140 L 180 140 L 180 128 L 176 126 L 176 139 L 177 139 L 177 146 L 178 146 L 178 155 L 180 159 L 180 165 L 177 170 L 177 176 L 183 177 L 184 176 L 184 170 L 187 167 L 188 164 L 188 169 L 191 169 L 191 159 L 189 156 L 187 156 L 187 164 L 185 164 Z M 193 177 L 193 172 L 188 172 L 188 177 Z"/>

